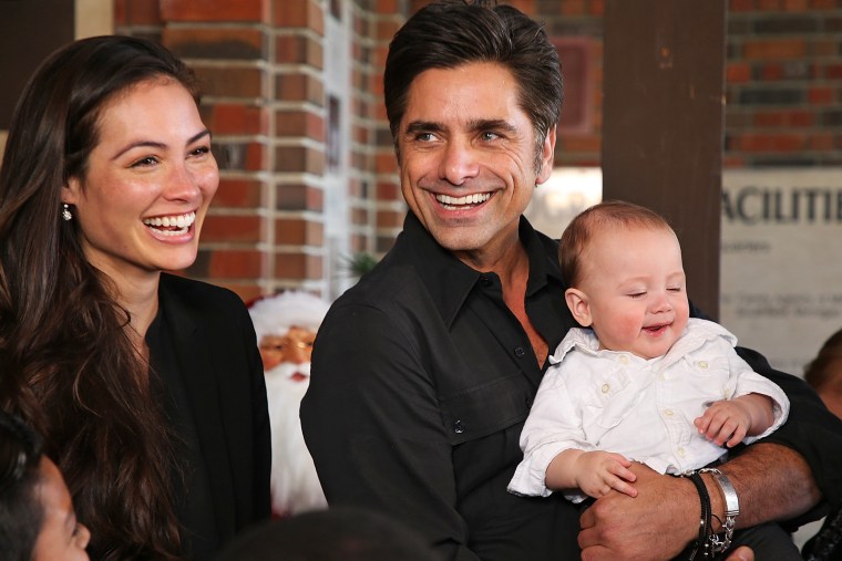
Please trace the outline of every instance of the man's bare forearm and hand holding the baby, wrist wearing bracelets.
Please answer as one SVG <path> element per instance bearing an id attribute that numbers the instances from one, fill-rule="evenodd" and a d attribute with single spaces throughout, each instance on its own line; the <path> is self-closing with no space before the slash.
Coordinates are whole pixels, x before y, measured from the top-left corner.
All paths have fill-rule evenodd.
<path id="1" fill-rule="evenodd" d="M 583 512 L 578 538 L 583 560 L 671 559 L 698 537 L 699 495 L 692 484 L 684 477 L 659 476 L 645 466 L 632 468 L 637 475 L 636 498 L 612 491 Z M 804 459 L 783 445 L 753 444 L 720 470 L 739 497 L 741 528 L 793 518 L 821 498 Z M 711 512 L 725 520 L 719 484 L 710 474 L 701 477 Z M 716 518 L 711 521 L 718 532 Z"/>

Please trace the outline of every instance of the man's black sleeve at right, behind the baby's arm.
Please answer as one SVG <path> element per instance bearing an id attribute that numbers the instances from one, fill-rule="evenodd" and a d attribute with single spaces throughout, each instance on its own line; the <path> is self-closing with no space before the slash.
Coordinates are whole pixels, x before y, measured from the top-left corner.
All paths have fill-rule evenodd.
<path id="1" fill-rule="evenodd" d="M 705 318 L 692 304 L 690 314 Z M 820 518 L 829 507 L 838 509 L 842 505 L 842 420 L 828 411 L 819 395 L 802 378 L 776 371 L 757 351 L 738 346 L 737 353 L 754 372 L 778 384 L 790 399 L 787 422 L 761 441 L 780 444 L 798 451 L 810 465 L 822 491 L 823 502 L 793 523 L 798 526 Z"/>

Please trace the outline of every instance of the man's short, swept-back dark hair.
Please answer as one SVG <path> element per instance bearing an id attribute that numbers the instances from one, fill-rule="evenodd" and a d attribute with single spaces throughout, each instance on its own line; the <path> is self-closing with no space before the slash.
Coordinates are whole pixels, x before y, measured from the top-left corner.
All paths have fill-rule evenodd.
<path id="1" fill-rule="evenodd" d="M 502 65 L 520 85 L 520 105 L 538 146 L 558 123 L 564 89 L 558 52 L 542 24 L 511 6 L 484 0 L 431 3 L 398 30 L 383 73 L 386 113 L 392 138 L 407 110 L 410 84 L 430 69 L 468 63 Z"/>

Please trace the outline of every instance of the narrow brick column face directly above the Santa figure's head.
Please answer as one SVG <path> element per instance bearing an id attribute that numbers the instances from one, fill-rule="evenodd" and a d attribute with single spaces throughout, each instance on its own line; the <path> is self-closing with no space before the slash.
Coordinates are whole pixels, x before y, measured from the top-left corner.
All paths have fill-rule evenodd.
<path id="1" fill-rule="evenodd" d="M 273 4 L 273 176 L 265 211 L 271 228 L 265 291 L 307 288 L 324 279 L 326 167 L 324 2 Z"/>

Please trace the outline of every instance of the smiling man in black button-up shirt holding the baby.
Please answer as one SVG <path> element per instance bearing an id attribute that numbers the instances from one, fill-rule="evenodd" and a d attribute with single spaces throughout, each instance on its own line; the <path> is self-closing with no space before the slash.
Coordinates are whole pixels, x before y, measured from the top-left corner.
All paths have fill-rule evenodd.
<path id="1" fill-rule="evenodd" d="M 576 325 L 557 242 L 521 216 L 550 177 L 562 102 L 545 32 L 506 6 L 428 6 L 392 41 L 384 92 L 410 212 L 314 350 L 301 419 L 329 502 L 389 512 L 453 560 L 677 555 L 699 534 L 696 480 L 635 466 L 638 497 L 608 494 L 581 521 L 561 494 L 506 492 L 547 352 Z M 842 449 L 842 428 L 798 380 L 742 355 L 794 419 L 721 467 L 737 523 L 839 501 L 842 458 L 817 448 Z M 718 484 L 700 481 L 726 520 Z"/>

